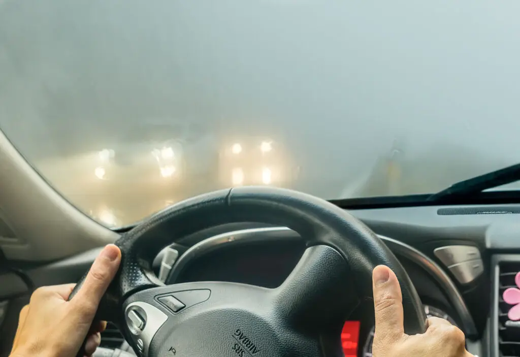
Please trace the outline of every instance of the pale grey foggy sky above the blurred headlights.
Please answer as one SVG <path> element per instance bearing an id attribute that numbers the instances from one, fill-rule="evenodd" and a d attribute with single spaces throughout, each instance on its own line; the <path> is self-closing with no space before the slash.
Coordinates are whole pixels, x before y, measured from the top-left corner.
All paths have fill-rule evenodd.
<path id="1" fill-rule="evenodd" d="M 520 161 L 518 14 L 518 1 L 7 0 L 0 127 L 34 160 L 199 121 L 283 138 L 320 175 L 364 170 L 396 137 L 409 157 L 485 171 Z"/>

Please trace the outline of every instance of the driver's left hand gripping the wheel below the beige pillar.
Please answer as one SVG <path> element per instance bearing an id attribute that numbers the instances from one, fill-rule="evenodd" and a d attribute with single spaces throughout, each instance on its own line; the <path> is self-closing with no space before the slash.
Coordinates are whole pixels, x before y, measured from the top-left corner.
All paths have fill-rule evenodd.
<path id="1" fill-rule="evenodd" d="M 71 301 L 74 284 L 36 289 L 20 312 L 10 357 L 75 357 L 85 337 L 85 355 L 93 354 L 107 324 L 94 316 L 120 262 L 119 248 L 107 245 Z"/>

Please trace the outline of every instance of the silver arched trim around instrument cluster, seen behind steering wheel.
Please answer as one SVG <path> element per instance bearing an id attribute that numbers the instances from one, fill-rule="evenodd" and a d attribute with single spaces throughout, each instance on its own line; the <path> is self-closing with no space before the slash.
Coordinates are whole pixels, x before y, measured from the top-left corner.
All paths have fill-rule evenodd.
<path id="1" fill-rule="evenodd" d="M 287 233 L 284 234 L 282 239 L 280 239 L 281 232 Z M 473 318 L 467 309 L 466 303 L 460 295 L 459 290 L 450 277 L 446 274 L 446 272 L 441 269 L 437 263 L 435 263 L 435 261 L 412 246 L 383 235 L 378 234 L 378 237 L 383 240 L 383 242 L 385 242 L 385 244 L 394 253 L 412 260 L 414 263 L 429 272 L 432 277 L 434 277 L 435 281 L 443 288 L 443 291 L 446 293 L 454 310 L 457 312 L 462 323 L 461 327 L 464 330 L 466 336 L 476 336 L 477 329 L 475 322 L 473 321 Z M 219 234 L 200 241 L 186 250 L 186 252 L 177 259 L 175 265 L 172 267 L 170 276 L 168 276 L 167 281 L 168 283 L 172 284 L 179 276 L 179 273 L 192 259 L 205 255 L 212 250 L 222 248 L 223 245 L 229 246 L 230 244 L 236 245 L 252 242 L 265 242 L 269 240 L 297 241 L 300 239 L 301 237 L 298 234 L 287 227 L 252 228 Z"/>

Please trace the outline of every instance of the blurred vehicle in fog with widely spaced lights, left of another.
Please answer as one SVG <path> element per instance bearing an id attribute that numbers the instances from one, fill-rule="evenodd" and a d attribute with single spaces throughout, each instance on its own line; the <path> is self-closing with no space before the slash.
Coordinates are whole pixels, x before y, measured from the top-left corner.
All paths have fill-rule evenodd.
<path id="1" fill-rule="evenodd" d="M 132 128 L 131 136 L 98 155 L 99 180 L 189 190 L 193 181 L 215 178 L 218 143 L 205 126 L 184 121 Z"/>

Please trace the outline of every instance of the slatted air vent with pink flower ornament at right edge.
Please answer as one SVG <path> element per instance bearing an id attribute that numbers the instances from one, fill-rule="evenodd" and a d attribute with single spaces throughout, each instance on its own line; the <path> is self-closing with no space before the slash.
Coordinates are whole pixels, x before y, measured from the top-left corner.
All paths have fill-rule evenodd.
<path id="1" fill-rule="evenodd" d="M 498 343 L 500 356 L 520 356 L 520 321 L 511 321 L 508 312 L 512 305 L 506 303 L 502 294 L 509 287 L 516 287 L 515 276 L 520 263 L 501 263 L 498 296 Z"/>

